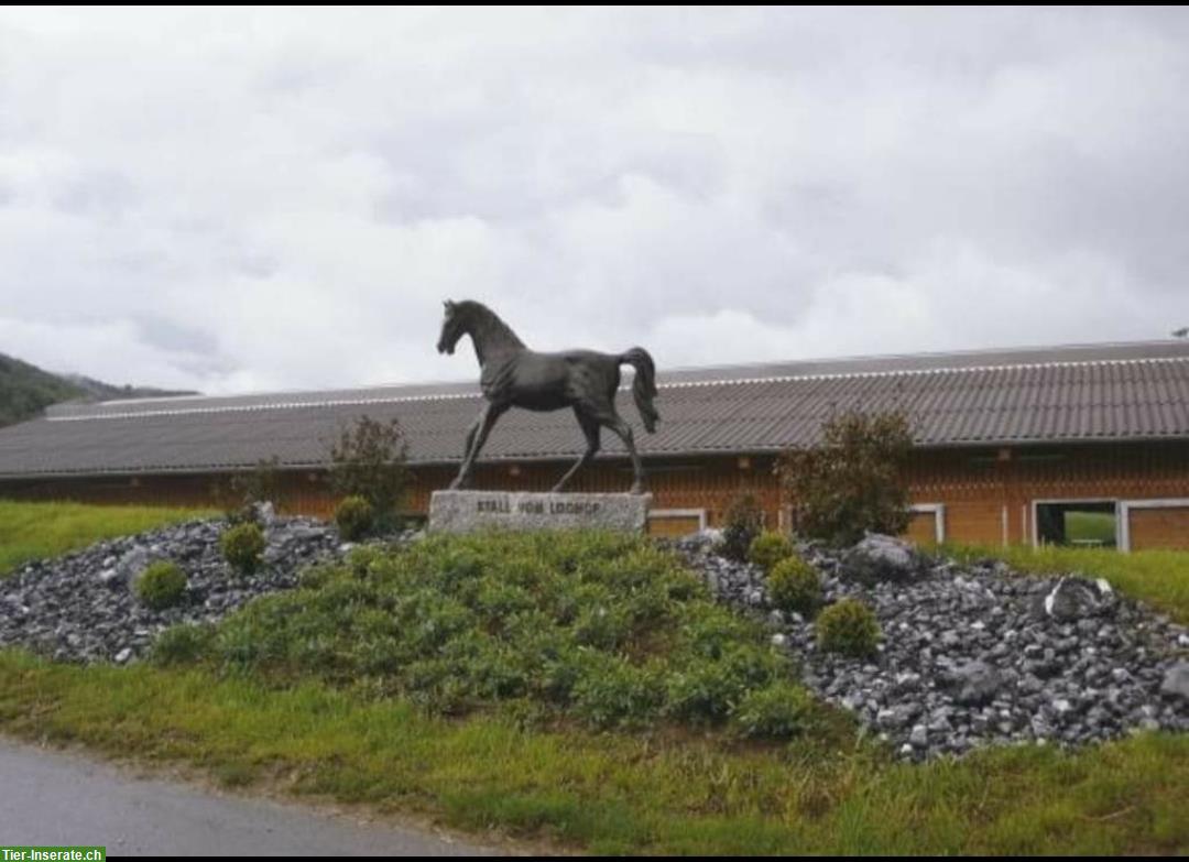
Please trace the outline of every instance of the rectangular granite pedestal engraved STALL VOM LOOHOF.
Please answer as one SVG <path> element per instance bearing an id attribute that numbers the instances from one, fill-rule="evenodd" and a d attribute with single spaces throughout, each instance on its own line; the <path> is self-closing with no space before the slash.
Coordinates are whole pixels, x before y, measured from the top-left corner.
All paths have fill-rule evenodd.
<path id="1" fill-rule="evenodd" d="M 434 491 L 430 533 L 599 529 L 643 533 L 652 495 Z"/>

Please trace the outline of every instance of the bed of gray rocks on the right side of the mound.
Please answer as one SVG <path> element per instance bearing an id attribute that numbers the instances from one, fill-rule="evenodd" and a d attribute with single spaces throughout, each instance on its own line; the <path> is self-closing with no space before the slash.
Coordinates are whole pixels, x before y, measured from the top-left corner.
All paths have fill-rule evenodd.
<path id="1" fill-rule="evenodd" d="M 905 757 L 1189 730 L 1189 633 L 1103 580 L 1023 575 L 993 560 L 963 566 L 869 535 L 845 552 L 789 548 L 819 590 L 792 610 L 773 594 L 779 564 L 721 556 L 712 536 L 678 547 L 721 600 L 767 617 L 806 686 Z M 879 634 L 866 654 L 826 649 L 819 637 L 814 611 L 847 599 L 874 612 Z"/>

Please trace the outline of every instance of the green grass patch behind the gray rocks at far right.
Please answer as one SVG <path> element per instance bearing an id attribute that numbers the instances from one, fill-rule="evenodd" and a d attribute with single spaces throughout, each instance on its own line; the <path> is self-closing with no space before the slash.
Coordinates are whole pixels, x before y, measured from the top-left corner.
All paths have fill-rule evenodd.
<path id="1" fill-rule="evenodd" d="M 943 546 L 943 553 L 960 560 L 994 558 L 1027 574 L 1081 573 L 1105 578 L 1131 598 L 1189 624 L 1189 552 L 1134 550 L 1046 546 Z"/>

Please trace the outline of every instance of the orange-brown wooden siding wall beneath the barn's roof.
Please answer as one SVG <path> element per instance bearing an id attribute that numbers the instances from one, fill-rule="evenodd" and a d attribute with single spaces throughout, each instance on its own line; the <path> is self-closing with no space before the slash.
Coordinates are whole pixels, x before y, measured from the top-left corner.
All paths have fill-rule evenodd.
<path id="1" fill-rule="evenodd" d="M 486 464 L 476 486 L 547 491 L 566 468 L 564 463 Z M 434 489 L 445 487 L 452 466 L 417 467 L 409 510 L 424 512 Z M 780 523 L 780 490 L 772 457 L 719 455 L 700 459 L 650 459 L 649 490 L 658 509 L 704 509 L 710 526 L 741 492 L 756 495 L 768 523 Z M 96 503 L 218 505 L 214 489 L 227 476 L 144 476 L 137 478 L 44 479 L 0 482 L 0 496 L 77 499 Z M 916 503 L 945 504 L 946 539 L 1000 543 L 1031 541 L 1031 504 L 1037 499 L 1151 499 L 1189 497 L 1189 446 L 1133 443 L 1011 449 L 933 449 L 918 452 L 908 467 Z M 631 484 L 627 461 L 598 460 L 575 477 L 574 491 L 625 491 Z M 284 511 L 328 516 L 334 499 L 317 471 L 287 471 L 282 482 Z M 929 518 L 931 523 L 931 517 Z M 1179 520 L 1170 522 L 1181 537 Z M 1141 528 L 1133 548 L 1166 542 Z M 1162 528 L 1165 529 L 1165 528 Z"/>

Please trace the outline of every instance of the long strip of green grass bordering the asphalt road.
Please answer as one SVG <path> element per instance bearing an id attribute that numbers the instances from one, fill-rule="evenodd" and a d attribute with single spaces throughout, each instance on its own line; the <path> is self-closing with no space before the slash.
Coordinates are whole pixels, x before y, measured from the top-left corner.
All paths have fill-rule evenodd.
<path id="1" fill-rule="evenodd" d="M 0 653 L 0 728 L 228 786 L 427 814 L 593 852 L 1184 854 L 1189 737 L 892 762 L 870 745 L 526 729 L 321 682 Z"/>

